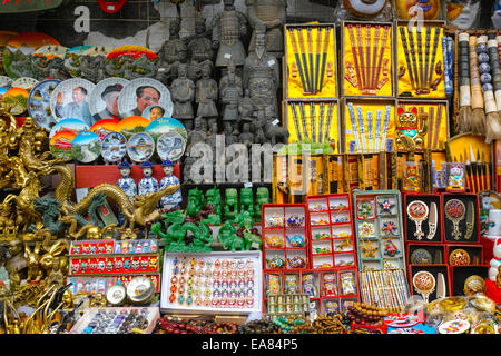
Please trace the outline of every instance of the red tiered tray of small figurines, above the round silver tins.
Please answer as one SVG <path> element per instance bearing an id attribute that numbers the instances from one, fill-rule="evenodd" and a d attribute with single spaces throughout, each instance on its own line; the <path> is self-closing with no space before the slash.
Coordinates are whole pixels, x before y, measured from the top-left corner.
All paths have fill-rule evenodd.
<path id="1" fill-rule="evenodd" d="M 104 294 L 116 285 L 128 287 L 145 277 L 154 293 L 160 290 L 158 241 L 79 240 L 70 246 L 68 283 L 71 293 Z M 148 296 L 149 298 L 149 296 Z"/>

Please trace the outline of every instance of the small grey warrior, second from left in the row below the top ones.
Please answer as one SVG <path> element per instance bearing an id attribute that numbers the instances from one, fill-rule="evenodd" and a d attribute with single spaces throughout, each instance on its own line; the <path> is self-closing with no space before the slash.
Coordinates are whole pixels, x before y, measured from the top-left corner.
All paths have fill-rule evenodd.
<path id="1" fill-rule="evenodd" d="M 207 121 L 207 126 L 217 120 L 216 100 L 218 98 L 217 81 L 210 78 L 212 65 L 202 66 L 202 78 L 196 83 L 197 117 Z"/>

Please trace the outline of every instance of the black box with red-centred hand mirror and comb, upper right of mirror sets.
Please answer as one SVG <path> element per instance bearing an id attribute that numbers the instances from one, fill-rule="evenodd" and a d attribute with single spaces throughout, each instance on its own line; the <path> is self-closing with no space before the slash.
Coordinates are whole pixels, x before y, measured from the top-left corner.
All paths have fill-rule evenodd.
<path id="1" fill-rule="evenodd" d="M 445 244 L 478 244 L 480 238 L 479 196 L 443 194 L 442 209 Z"/>

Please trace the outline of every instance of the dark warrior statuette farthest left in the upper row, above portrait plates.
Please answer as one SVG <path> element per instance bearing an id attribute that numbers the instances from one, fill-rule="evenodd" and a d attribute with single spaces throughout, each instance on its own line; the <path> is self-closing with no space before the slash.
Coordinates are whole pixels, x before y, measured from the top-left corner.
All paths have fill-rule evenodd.
<path id="1" fill-rule="evenodd" d="M 188 59 L 188 48 L 179 38 L 180 19 L 176 18 L 169 23 L 169 39 L 164 42 L 158 52 L 157 79 L 168 85 L 173 78 L 177 78 L 177 66 L 186 63 Z"/>

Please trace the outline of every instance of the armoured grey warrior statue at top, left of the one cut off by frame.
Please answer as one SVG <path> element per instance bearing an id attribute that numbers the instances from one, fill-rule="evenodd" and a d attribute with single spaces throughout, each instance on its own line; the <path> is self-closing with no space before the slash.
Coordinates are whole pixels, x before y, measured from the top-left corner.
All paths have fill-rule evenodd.
<path id="1" fill-rule="evenodd" d="M 247 34 L 247 18 L 235 10 L 235 0 L 223 0 L 224 9 L 217 13 L 212 23 L 213 48 L 217 51 L 216 67 L 243 66 L 245 49 L 240 38 Z"/>

